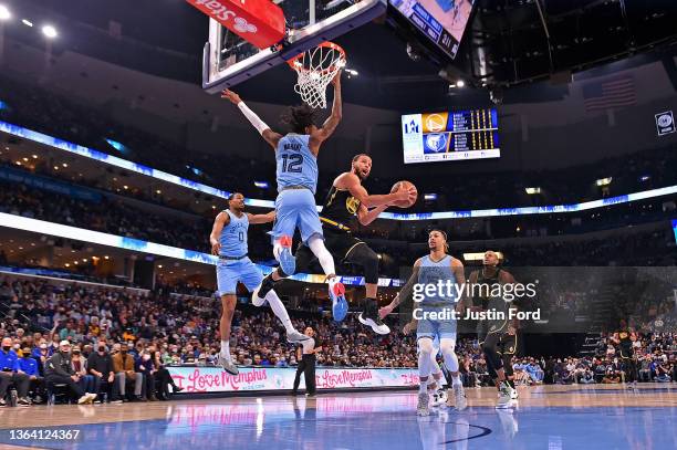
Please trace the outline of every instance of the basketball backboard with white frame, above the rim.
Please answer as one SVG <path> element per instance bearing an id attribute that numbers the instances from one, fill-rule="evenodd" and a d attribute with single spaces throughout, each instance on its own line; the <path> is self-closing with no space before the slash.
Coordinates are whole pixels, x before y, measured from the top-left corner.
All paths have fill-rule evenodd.
<path id="1" fill-rule="evenodd" d="M 259 50 L 213 19 L 202 53 L 202 87 L 218 93 L 282 64 L 384 14 L 387 0 L 275 0 L 284 11 L 287 38 Z M 350 61 L 350 53 L 348 53 Z"/>

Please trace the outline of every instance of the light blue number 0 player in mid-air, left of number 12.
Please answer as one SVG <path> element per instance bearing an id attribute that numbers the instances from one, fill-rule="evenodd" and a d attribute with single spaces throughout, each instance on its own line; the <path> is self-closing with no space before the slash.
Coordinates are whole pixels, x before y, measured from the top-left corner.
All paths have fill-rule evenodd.
<path id="1" fill-rule="evenodd" d="M 228 197 L 228 209 L 218 213 L 209 236 L 211 253 L 219 257 L 217 265 L 217 284 L 221 297 L 221 321 L 219 333 L 221 335 L 221 352 L 218 365 L 226 371 L 238 375 L 238 367 L 230 357 L 230 324 L 237 303 L 236 289 L 238 282 L 252 292 L 263 280 L 263 273 L 251 262 L 247 255 L 247 232 L 250 223 L 268 223 L 275 218 L 274 211 L 267 214 L 250 214 L 244 212 L 244 196 L 239 192 Z M 294 329 L 287 308 L 274 291 L 270 291 L 265 299 L 252 297 L 256 306 L 262 306 L 268 301 L 271 310 L 278 316 L 290 343 L 300 343 L 308 336 Z"/>

